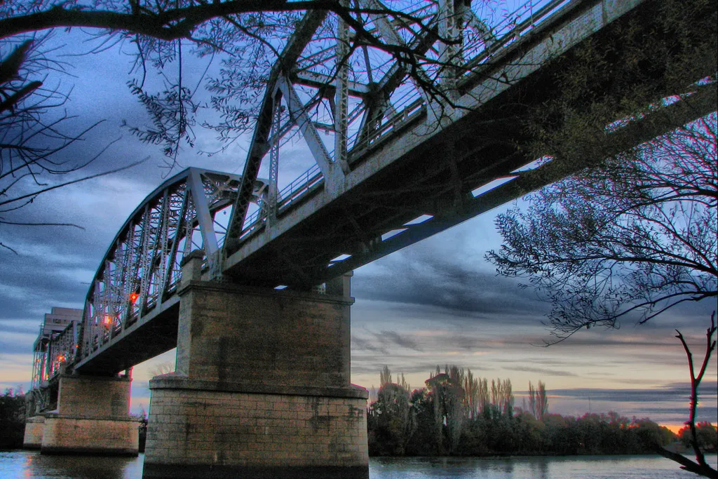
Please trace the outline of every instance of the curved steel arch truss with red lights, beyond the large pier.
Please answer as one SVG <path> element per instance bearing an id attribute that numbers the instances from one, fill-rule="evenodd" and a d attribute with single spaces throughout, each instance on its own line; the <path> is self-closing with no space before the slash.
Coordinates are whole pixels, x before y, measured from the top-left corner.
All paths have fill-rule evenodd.
<path id="1" fill-rule="evenodd" d="M 202 249 L 205 265 L 215 267 L 240 182 L 238 175 L 189 168 L 146 197 L 119 231 L 90 286 L 76 348 L 80 357 L 65 360 L 88 357 L 172 297 L 182 259 L 191 251 Z"/>

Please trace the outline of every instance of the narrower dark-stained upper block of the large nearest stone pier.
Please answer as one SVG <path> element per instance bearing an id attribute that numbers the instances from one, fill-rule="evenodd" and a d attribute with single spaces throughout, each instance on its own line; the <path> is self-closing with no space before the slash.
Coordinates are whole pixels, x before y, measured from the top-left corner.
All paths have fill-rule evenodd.
<path id="1" fill-rule="evenodd" d="M 177 372 L 218 383 L 348 386 L 350 304 L 192 282 L 180 302 Z"/>

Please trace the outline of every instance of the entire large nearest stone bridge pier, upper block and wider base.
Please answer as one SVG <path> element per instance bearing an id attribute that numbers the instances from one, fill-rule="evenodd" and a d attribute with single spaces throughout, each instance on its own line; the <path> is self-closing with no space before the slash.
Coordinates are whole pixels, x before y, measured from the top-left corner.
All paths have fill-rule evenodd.
<path id="1" fill-rule="evenodd" d="M 150 381 L 144 478 L 368 478 L 350 275 L 312 294 L 200 269 L 182 268 L 176 371 Z"/>

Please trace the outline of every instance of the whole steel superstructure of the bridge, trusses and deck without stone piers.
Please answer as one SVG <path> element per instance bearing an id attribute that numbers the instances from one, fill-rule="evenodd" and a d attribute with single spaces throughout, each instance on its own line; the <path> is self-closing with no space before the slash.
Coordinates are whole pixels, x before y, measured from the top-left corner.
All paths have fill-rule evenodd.
<path id="1" fill-rule="evenodd" d="M 180 264 L 197 248 L 206 279 L 309 289 L 569 174 L 552 162 L 536 167 L 510 118 L 556 94 L 551 60 L 588 37 L 600 45 L 612 24 L 650 22 L 658 3 L 534 0 L 493 19 L 462 2 L 418 1 L 411 14 L 422 28 L 366 15 L 365 29 L 386 45 L 434 60 L 414 75 L 380 50 L 350 51 L 347 24 L 307 12 L 271 70 L 243 174 L 190 168 L 146 197 L 108 248 L 83 322 L 52 338 L 34 384 L 63 365 L 117 373 L 174 348 Z M 675 126 L 715 111 L 715 85 L 695 90 L 690 108 L 666 107 Z M 662 128 L 634 121 L 611 134 L 625 144 Z M 280 190 L 290 137 L 306 142 L 314 165 Z"/>

